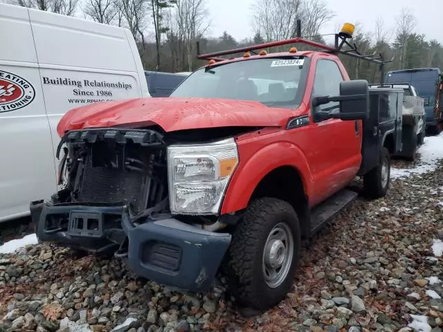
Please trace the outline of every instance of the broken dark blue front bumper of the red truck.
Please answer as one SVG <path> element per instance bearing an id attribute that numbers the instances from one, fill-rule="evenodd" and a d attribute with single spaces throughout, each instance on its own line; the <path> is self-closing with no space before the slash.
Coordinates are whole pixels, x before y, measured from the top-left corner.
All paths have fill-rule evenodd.
<path id="1" fill-rule="evenodd" d="M 42 243 L 89 252 L 124 248 L 122 256 L 137 275 L 192 292 L 213 282 L 231 239 L 228 233 L 208 232 L 171 217 L 148 217 L 133 225 L 122 206 L 40 201 L 30 204 L 30 212 Z"/>

